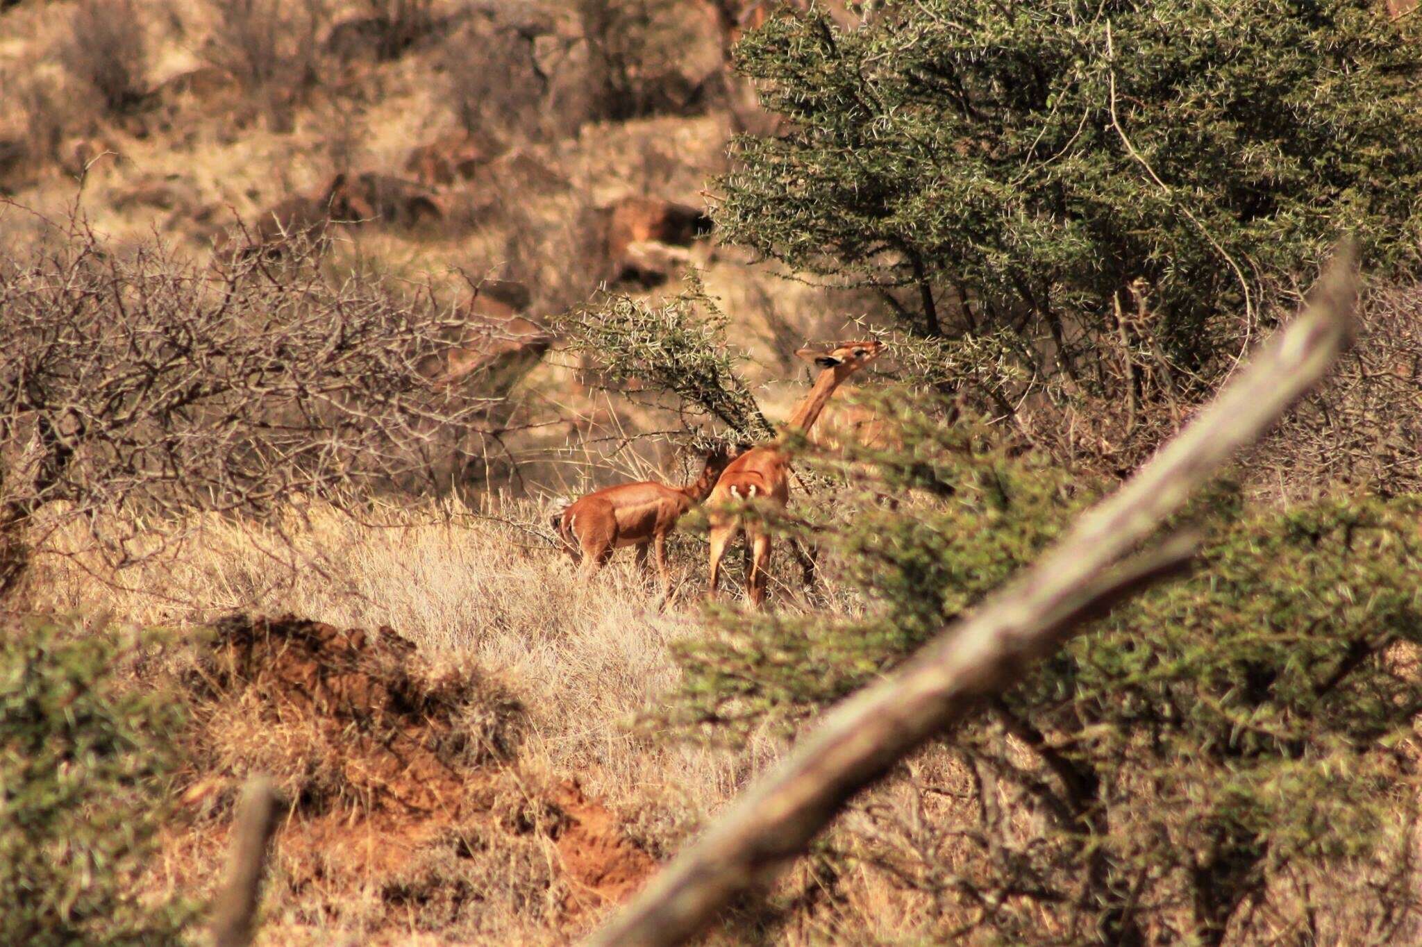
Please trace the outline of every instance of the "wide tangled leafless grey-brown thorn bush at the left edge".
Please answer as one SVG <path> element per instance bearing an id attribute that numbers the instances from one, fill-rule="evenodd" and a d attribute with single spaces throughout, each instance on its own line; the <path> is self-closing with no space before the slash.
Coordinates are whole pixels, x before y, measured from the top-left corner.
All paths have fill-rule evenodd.
<path id="1" fill-rule="evenodd" d="M 0 592 L 41 520 L 122 513 L 94 535 L 122 563 L 145 518 L 448 488 L 489 407 L 429 380 L 454 323 L 429 287 L 337 280 L 301 246 L 215 279 L 77 229 L 0 262 Z"/>

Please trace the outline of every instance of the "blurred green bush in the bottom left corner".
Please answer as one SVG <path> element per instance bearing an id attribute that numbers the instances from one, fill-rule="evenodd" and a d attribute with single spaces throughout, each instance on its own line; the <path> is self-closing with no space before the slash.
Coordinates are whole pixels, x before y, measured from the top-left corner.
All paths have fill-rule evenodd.
<path id="1" fill-rule="evenodd" d="M 121 685 L 132 641 L 54 624 L 0 633 L 0 943 L 176 943 L 186 907 L 138 890 L 181 715 Z"/>

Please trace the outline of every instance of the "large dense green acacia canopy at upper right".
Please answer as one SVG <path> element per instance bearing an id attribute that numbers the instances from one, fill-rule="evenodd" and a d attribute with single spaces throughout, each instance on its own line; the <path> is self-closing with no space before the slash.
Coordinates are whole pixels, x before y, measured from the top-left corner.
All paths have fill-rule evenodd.
<path id="1" fill-rule="evenodd" d="M 728 240 L 904 287 L 896 307 L 934 334 L 1065 326 L 1089 350 L 1145 299 L 1193 367 L 1345 230 L 1374 272 L 1419 266 L 1422 44 L 1385 4 L 879 6 L 739 44 L 786 122 L 738 141 Z"/>

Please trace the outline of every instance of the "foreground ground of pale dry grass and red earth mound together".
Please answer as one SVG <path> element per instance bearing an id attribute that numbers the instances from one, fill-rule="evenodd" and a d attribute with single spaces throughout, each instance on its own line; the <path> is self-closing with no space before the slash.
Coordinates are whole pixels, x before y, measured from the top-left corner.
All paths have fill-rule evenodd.
<path id="1" fill-rule="evenodd" d="M 656 583 L 620 557 L 583 583 L 562 555 L 529 547 L 525 533 L 459 513 L 444 523 L 385 510 L 375 513 L 384 525 L 374 525 L 306 509 L 284 523 L 292 547 L 213 518 L 191 523 L 183 547 L 118 574 L 95 576 L 82 555 L 46 557 L 30 590 L 41 610 L 193 627 L 243 607 L 334 626 L 316 631 L 324 636 L 316 644 L 303 628 L 280 641 L 247 626 L 236 638 L 223 633 L 219 654 L 246 647 L 247 656 L 228 677 L 220 657 L 202 658 L 196 675 L 191 656 L 176 668 L 139 671 L 178 674 L 198 692 L 185 823 L 165 845 L 161 886 L 209 889 L 226 806 L 242 775 L 259 768 L 297 801 L 277 845 L 264 943 L 556 943 L 624 896 L 776 758 L 779 745 L 764 737 L 732 752 L 634 728 L 673 683 L 668 643 L 697 626 L 694 582 L 664 606 Z M 53 549 L 67 542 L 84 545 L 60 536 Z M 685 576 L 702 550 L 678 546 Z M 311 565 L 293 577 L 282 562 L 290 555 Z M 419 657 L 378 634 L 361 647 L 337 633 L 381 626 Z M 390 690 L 401 695 L 384 697 Z M 447 692 L 456 694 L 452 710 L 434 707 L 431 695 Z M 317 694 L 319 705 L 303 694 Z M 431 749 L 391 744 L 400 756 L 391 764 L 351 737 L 378 717 L 371 708 L 408 707 L 410 694 L 434 710 L 419 707 L 408 719 L 392 711 L 374 729 Z M 476 748 L 439 742 L 455 728 L 474 734 Z M 941 792 L 963 775 L 939 755 L 912 771 L 914 781 L 866 803 L 879 809 L 875 819 L 852 816 L 848 832 L 857 828 L 872 843 L 886 825 L 910 830 L 930 816 L 951 825 L 958 803 L 923 785 Z M 813 943 L 842 924 L 912 936 L 931 907 L 872 870 L 839 884 L 835 909 L 799 919 L 803 930 L 784 931 L 784 943 Z M 798 873 L 785 892 L 803 896 L 815 886 Z"/>

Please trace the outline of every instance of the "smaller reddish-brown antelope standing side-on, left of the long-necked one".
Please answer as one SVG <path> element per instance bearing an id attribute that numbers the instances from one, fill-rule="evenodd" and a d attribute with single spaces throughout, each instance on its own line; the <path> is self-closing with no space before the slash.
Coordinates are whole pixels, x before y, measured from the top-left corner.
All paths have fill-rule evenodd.
<path id="1" fill-rule="evenodd" d="M 693 503 L 707 498 L 717 476 L 739 454 L 739 449 L 718 445 L 707 455 L 701 476 L 685 486 L 641 481 L 594 491 L 555 513 L 553 530 L 573 562 L 580 563 L 583 576 L 602 569 L 613 550 L 623 546 L 636 546 L 637 565 L 646 569 L 651 546 L 657 555 L 661 594 L 668 596 L 667 536 Z"/>

